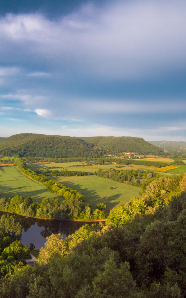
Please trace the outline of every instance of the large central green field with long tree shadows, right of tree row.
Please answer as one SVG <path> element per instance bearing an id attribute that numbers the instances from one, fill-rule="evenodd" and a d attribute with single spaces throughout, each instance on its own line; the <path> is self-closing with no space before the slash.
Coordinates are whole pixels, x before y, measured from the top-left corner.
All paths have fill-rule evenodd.
<path id="1" fill-rule="evenodd" d="M 139 197 L 140 188 L 97 176 L 49 177 L 85 195 L 85 204 L 105 203 L 107 209 L 124 204 L 131 196 Z M 114 189 L 111 190 L 110 187 Z"/>

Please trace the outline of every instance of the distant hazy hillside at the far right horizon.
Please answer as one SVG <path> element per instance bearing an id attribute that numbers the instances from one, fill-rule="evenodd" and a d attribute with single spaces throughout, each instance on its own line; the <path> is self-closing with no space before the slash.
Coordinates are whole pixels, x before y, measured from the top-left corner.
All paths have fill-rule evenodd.
<path id="1" fill-rule="evenodd" d="M 158 146 L 161 150 L 176 150 L 186 152 L 186 142 L 150 141 L 149 143 Z"/>

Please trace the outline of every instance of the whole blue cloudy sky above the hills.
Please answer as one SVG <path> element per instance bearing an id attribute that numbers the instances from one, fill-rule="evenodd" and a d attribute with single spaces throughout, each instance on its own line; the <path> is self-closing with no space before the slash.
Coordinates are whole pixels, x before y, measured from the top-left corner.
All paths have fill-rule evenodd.
<path id="1" fill-rule="evenodd" d="M 186 2 L 6 0 L 0 136 L 186 141 Z"/>

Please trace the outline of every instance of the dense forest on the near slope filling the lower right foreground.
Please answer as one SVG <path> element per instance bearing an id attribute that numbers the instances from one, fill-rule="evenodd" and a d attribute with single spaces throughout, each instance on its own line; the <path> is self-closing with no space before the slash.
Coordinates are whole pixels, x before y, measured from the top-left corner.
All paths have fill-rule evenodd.
<path id="1" fill-rule="evenodd" d="M 151 181 L 141 197 L 66 240 L 52 234 L 33 267 L 0 279 L 1 298 L 184 298 L 186 174 Z"/>

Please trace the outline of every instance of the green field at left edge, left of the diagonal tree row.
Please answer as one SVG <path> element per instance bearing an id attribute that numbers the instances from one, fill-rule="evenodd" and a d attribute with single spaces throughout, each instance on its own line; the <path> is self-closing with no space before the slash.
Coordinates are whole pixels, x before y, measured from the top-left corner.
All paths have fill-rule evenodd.
<path id="1" fill-rule="evenodd" d="M 21 174 L 16 167 L 0 167 L 1 197 L 15 195 L 30 196 L 33 201 L 40 203 L 44 198 L 57 197 L 42 184 L 35 182 Z M 59 197 L 62 201 L 62 198 Z"/>

